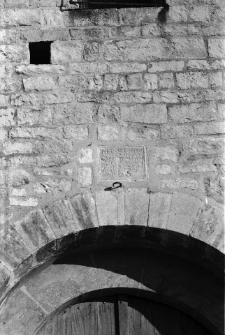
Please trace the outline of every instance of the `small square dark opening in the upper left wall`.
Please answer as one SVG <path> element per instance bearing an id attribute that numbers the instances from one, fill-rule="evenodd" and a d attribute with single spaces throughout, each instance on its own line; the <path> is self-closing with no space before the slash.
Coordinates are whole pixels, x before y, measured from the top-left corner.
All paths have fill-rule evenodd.
<path id="1" fill-rule="evenodd" d="M 51 64 L 51 43 L 49 41 L 29 43 L 30 64 Z"/>

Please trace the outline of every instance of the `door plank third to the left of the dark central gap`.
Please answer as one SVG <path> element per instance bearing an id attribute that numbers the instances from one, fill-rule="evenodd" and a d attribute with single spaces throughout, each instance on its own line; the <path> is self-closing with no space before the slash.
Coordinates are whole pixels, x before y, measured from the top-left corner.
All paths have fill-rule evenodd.
<path id="1" fill-rule="evenodd" d="M 71 307 L 72 335 L 85 335 L 85 304 Z"/>

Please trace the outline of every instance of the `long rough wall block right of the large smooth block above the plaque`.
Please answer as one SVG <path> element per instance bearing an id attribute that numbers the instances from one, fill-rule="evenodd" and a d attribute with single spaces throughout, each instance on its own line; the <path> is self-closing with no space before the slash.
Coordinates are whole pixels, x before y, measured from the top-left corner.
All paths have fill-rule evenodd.
<path id="1" fill-rule="evenodd" d="M 212 121 L 218 118 L 215 103 L 191 103 L 168 107 L 168 116 L 174 122 L 182 124 L 193 121 Z"/>

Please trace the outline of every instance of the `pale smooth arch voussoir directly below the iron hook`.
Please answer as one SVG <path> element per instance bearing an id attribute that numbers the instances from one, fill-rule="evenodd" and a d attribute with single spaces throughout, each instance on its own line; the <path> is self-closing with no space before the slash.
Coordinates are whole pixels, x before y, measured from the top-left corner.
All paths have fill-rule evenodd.
<path id="1" fill-rule="evenodd" d="M 107 191 L 96 192 L 96 210 L 99 226 L 119 225 L 118 202 L 115 193 Z"/>

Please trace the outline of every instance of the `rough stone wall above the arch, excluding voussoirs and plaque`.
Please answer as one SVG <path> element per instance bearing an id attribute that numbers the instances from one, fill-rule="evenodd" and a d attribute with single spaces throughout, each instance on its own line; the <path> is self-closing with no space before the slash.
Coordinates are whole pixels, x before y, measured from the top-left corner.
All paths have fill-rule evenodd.
<path id="1" fill-rule="evenodd" d="M 125 187 L 222 202 L 222 5 L 172 0 L 165 24 L 161 8 L 1 0 L 1 220 L 111 186 L 100 146 L 146 148 L 147 179 Z M 30 65 L 43 40 L 52 64 Z"/>

